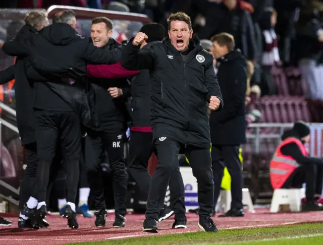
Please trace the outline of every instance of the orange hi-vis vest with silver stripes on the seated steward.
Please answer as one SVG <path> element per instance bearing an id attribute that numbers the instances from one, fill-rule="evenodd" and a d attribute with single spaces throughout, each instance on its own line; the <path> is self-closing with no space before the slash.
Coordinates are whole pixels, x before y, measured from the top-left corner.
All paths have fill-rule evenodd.
<path id="1" fill-rule="evenodd" d="M 296 138 L 288 137 L 277 147 L 270 165 L 270 178 L 273 189 L 280 189 L 293 171 L 300 166 L 291 156 L 285 156 L 281 148 L 289 143 L 295 143 L 304 156 L 308 156 L 306 147 Z"/>

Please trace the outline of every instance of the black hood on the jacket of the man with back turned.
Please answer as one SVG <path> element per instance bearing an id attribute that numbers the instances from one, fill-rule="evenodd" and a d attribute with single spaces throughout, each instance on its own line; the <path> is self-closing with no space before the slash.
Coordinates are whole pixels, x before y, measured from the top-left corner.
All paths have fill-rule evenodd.
<path id="1" fill-rule="evenodd" d="M 53 45 L 65 46 L 82 39 L 82 36 L 69 24 L 55 23 L 38 32 Z"/>

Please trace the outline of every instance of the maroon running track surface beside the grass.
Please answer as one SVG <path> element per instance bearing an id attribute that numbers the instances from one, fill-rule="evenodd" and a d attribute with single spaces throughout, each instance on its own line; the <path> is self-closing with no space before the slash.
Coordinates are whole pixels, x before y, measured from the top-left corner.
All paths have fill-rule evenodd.
<path id="1" fill-rule="evenodd" d="M 4 215 L 5 216 L 5 215 Z M 37 244 L 53 245 L 83 241 L 98 241 L 123 239 L 131 237 L 143 237 L 148 235 L 163 235 L 198 231 L 198 216 L 187 214 L 188 228 L 183 230 L 172 229 L 174 216 L 158 224 L 158 234 L 142 232 L 144 215 L 127 215 L 125 228 L 112 228 L 114 214 L 108 214 L 106 226 L 97 228 L 94 225 L 94 218 L 78 217 L 78 229 L 67 227 L 67 220 L 60 216 L 48 215 L 46 220 L 50 223 L 48 228 L 40 230 L 17 228 L 17 216 L 5 217 L 13 221 L 12 226 L 0 226 L 0 244 Z M 258 209 L 256 213 L 246 213 L 240 218 L 214 218 L 219 229 L 253 228 L 297 224 L 304 222 L 317 222 L 323 220 L 323 212 L 308 213 L 280 213 L 271 214 L 267 209 Z"/>

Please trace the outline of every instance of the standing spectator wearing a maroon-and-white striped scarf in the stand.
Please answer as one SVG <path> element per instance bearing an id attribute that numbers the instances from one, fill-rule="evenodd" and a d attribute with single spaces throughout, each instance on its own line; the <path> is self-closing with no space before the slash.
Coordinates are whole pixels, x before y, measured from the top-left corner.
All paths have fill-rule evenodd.
<path id="1" fill-rule="evenodd" d="M 265 9 L 259 20 L 263 40 L 262 80 L 260 84 L 262 95 L 275 95 L 278 92 L 272 72 L 275 65 L 280 65 L 277 35 L 275 32 L 276 23 L 277 12 L 273 8 Z"/>

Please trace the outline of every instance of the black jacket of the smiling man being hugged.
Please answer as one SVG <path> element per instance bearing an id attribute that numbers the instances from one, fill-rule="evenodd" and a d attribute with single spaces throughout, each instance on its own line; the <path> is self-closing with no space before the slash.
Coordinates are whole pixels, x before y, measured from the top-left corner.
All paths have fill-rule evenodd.
<path id="1" fill-rule="evenodd" d="M 92 40 L 90 39 L 90 42 Z M 105 50 L 114 50 L 120 47 L 120 43 L 110 38 L 106 45 L 101 47 Z M 101 126 L 113 127 L 115 124 L 125 123 L 129 119 L 126 103 L 131 95 L 131 86 L 126 78 L 102 79 L 91 78 L 91 86 L 95 92 L 95 111 L 99 117 Z M 113 98 L 107 89 L 118 87 L 122 89 L 122 95 Z"/>

